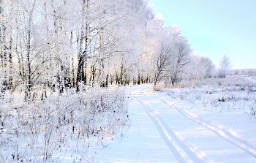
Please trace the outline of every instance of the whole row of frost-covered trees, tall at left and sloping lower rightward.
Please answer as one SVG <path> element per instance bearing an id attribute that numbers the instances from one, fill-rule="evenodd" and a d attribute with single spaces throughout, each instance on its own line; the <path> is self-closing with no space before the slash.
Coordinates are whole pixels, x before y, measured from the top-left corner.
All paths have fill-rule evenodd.
<path id="1" fill-rule="evenodd" d="M 144 0 L 2 0 L 0 18 L 1 96 L 20 88 L 26 102 L 36 87 L 44 99 L 47 88 L 173 85 L 216 69 Z"/>

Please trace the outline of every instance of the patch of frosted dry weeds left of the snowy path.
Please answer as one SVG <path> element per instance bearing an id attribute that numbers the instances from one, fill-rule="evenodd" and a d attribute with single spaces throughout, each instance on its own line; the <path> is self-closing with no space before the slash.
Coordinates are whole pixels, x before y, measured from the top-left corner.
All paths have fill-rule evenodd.
<path id="1" fill-rule="evenodd" d="M 129 128 L 121 88 L 94 86 L 42 102 L 7 103 L 1 111 L 0 158 L 7 162 L 91 162 L 105 137 Z"/>

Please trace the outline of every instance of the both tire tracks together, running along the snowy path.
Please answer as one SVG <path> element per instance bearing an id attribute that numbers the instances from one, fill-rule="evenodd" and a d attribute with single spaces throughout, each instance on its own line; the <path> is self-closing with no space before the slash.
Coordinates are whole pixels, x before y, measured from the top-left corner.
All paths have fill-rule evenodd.
<path id="1" fill-rule="evenodd" d="M 139 94 L 143 95 L 143 90 L 145 89 L 146 88 L 141 89 Z M 137 89 L 134 89 L 132 91 L 136 90 Z M 130 96 L 132 91 L 129 93 Z M 208 157 L 202 151 L 199 151 L 194 145 L 187 142 L 184 137 L 178 134 L 178 132 L 175 132 L 170 126 L 168 126 L 162 116 L 148 105 L 148 102 L 135 95 L 136 94 L 134 94 L 133 96 L 135 97 L 135 99 L 138 100 L 138 102 L 140 102 L 141 105 L 143 105 L 145 112 L 154 122 L 154 125 L 157 127 L 159 134 L 168 145 L 170 150 L 173 152 L 173 155 L 176 157 L 178 162 L 188 162 L 189 158 L 192 159 L 193 162 L 211 162 L 211 160 L 208 159 Z M 190 119 L 191 121 L 194 121 L 197 124 L 200 124 L 200 126 L 203 126 L 206 129 L 211 130 L 223 140 L 226 140 L 227 142 L 236 145 L 238 148 L 241 148 L 241 150 L 249 153 L 251 156 L 256 158 L 256 145 L 252 143 L 251 140 L 246 139 L 246 137 L 243 137 L 232 129 L 228 129 L 225 126 L 217 124 L 214 121 L 210 121 L 206 118 L 201 118 L 193 113 L 189 113 L 189 111 L 185 110 L 182 107 L 179 107 L 177 105 L 178 102 L 170 103 L 167 102 L 165 99 L 158 98 L 157 96 L 154 96 L 154 98 L 159 99 L 165 105 L 173 107 L 178 111 L 178 113 L 181 113 L 181 115 L 183 115 L 184 117 Z"/>

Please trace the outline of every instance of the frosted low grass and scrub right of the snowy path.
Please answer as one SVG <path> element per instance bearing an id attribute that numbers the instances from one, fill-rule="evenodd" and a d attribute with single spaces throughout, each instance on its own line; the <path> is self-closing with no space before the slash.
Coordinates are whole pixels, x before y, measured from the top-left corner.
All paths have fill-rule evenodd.
<path id="1" fill-rule="evenodd" d="M 190 83 L 189 83 L 190 82 Z M 217 112 L 241 111 L 256 117 L 256 80 L 246 76 L 183 80 L 175 88 L 162 88 L 168 96 L 193 105 L 214 106 Z"/>

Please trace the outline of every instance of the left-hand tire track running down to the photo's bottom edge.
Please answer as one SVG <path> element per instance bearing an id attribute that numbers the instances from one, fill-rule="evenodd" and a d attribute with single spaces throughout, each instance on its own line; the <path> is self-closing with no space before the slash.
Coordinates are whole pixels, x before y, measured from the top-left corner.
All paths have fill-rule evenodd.
<path id="1" fill-rule="evenodd" d="M 183 158 L 183 156 L 181 156 L 180 151 L 178 151 L 178 148 L 171 142 L 167 134 L 169 134 L 170 137 L 172 137 L 173 140 L 176 141 L 176 143 L 178 143 L 178 145 L 184 150 L 185 153 L 187 153 L 187 156 L 189 156 L 193 162 L 212 162 L 210 159 L 208 159 L 205 153 L 199 151 L 194 145 L 187 142 L 187 140 L 185 140 L 184 137 L 178 134 L 178 132 L 174 132 L 173 129 L 171 129 L 170 126 L 166 124 L 162 116 L 159 113 L 154 112 L 154 110 L 152 110 L 151 107 L 149 107 L 148 104 L 146 104 L 146 102 L 143 102 L 142 99 L 138 99 L 137 96 L 135 96 L 135 98 L 138 100 L 138 102 L 140 102 L 141 105 L 143 105 L 145 112 L 154 122 L 155 126 L 159 131 L 159 134 L 161 135 L 165 143 L 168 145 L 170 150 L 173 151 L 173 155 L 176 157 L 178 162 L 184 162 L 185 160 L 179 160 Z"/>

